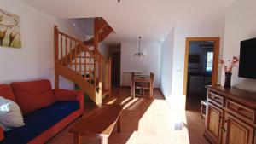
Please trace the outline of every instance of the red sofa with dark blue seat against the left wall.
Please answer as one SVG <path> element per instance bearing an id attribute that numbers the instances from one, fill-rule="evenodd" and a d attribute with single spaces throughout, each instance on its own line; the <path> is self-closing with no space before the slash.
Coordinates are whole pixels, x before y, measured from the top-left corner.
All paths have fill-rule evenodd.
<path id="1" fill-rule="evenodd" d="M 54 99 L 51 95 L 54 96 Z M 70 124 L 73 122 L 73 120 L 79 118 L 79 116 L 81 116 L 84 112 L 84 94 L 82 91 L 67 89 L 52 90 L 49 80 L 46 79 L 32 82 L 15 82 L 10 85 L 0 84 L 0 96 L 15 101 L 20 106 L 26 124 L 23 127 L 15 128 L 14 130 L 9 131 L 3 131 L 3 129 L 0 127 L 0 143 L 10 143 L 10 141 L 12 143 L 14 141 L 29 144 L 44 143 L 63 130 L 67 124 Z M 77 107 L 68 114 L 67 110 L 69 109 L 61 112 L 61 110 L 65 109 L 65 107 L 69 108 L 72 106 Z M 45 114 L 47 111 L 49 112 L 49 115 L 50 112 L 55 112 L 52 113 L 52 116 L 56 118 L 49 118 L 50 116 L 47 113 Z M 64 115 L 65 113 L 66 115 Z M 51 121 L 49 124 L 46 123 L 48 119 Z M 38 126 L 38 128 L 35 128 L 35 125 Z M 45 127 L 47 127 L 47 129 L 45 129 Z M 44 131 L 34 136 L 38 133 L 38 130 L 40 131 L 40 129 L 43 128 Z M 28 136 L 26 140 L 23 140 L 21 135 L 26 137 L 27 135 L 31 135 L 30 133 L 32 136 Z"/>

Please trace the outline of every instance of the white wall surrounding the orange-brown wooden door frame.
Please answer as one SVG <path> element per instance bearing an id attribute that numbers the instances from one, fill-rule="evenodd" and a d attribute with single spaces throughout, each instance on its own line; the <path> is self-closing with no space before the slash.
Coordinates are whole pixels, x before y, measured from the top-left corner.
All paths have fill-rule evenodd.
<path id="1" fill-rule="evenodd" d="M 224 25 L 175 26 L 173 44 L 172 95 L 183 95 L 183 72 L 186 37 L 221 37 L 220 57 L 222 57 Z"/>

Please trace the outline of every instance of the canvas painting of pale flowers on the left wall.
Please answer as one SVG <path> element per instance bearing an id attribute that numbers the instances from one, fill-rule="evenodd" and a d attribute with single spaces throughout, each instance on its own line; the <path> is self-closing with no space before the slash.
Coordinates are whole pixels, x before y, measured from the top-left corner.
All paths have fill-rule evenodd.
<path id="1" fill-rule="evenodd" d="M 21 48 L 20 16 L 0 9 L 0 46 Z"/>

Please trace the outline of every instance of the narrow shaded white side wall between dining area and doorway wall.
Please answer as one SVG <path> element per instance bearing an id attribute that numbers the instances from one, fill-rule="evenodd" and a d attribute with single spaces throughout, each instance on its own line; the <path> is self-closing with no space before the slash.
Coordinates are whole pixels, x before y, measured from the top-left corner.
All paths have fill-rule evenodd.
<path id="1" fill-rule="evenodd" d="M 173 40 L 174 29 L 161 44 L 160 89 L 166 97 L 172 95 Z"/>

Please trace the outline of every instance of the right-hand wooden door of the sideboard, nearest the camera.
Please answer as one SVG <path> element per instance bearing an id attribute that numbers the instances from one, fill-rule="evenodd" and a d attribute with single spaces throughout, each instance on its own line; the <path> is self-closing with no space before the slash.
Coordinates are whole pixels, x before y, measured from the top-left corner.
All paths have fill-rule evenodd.
<path id="1" fill-rule="evenodd" d="M 223 144 L 253 144 L 253 127 L 225 113 Z"/>

